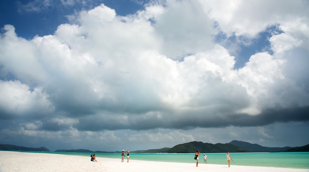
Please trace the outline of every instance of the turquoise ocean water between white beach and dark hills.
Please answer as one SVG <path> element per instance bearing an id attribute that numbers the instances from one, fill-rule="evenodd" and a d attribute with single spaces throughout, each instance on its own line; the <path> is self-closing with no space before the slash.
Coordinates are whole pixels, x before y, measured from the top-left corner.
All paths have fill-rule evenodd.
<path id="1" fill-rule="evenodd" d="M 30 151 L 25 151 L 30 152 Z M 33 152 L 34 153 L 34 152 Z M 68 152 L 37 152 L 47 154 L 65 154 L 88 156 L 93 153 L 68 153 Z M 121 153 L 94 153 L 98 160 L 100 158 L 115 158 L 121 161 Z M 130 153 L 130 160 L 161 161 L 161 162 L 184 162 L 196 163 L 193 154 L 134 154 Z M 209 164 L 227 164 L 226 153 L 206 154 Z M 203 161 L 204 153 L 201 153 L 200 163 Z M 231 165 L 238 166 L 265 166 L 282 168 L 303 168 L 309 169 L 309 152 L 276 152 L 276 153 L 231 153 L 234 160 Z M 118 159 L 118 160 L 116 160 Z M 126 159 L 126 157 L 125 157 Z"/>

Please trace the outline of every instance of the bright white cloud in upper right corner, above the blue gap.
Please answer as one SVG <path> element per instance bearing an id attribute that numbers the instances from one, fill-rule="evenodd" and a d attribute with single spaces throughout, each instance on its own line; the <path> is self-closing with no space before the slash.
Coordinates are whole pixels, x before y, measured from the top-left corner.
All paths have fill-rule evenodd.
<path id="1" fill-rule="evenodd" d="M 266 27 L 282 24 L 293 28 L 299 21 L 308 22 L 308 2 L 297 1 L 204 1 L 199 0 L 208 16 L 227 35 L 254 37 Z M 306 27 L 307 24 L 304 25 Z M 286 30 L 285 30 L 286 31 Z"/>

